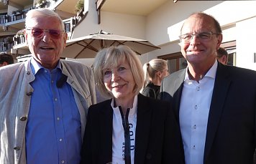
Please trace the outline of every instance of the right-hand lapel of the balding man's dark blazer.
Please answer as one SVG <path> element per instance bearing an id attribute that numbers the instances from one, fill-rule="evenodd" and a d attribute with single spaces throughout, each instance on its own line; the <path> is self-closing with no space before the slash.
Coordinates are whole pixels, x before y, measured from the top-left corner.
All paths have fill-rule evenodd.
<path id="1" fill-rule="evenodd" d="M 214 83 L 214 91 L 211 98 L 211 107 L 209 111 L 207 132 L 206 132 L 206 143 L 204 148 L 204 163 L 211 150 L 211 145 L 214 141 L 214 136 L 219 125 L 221 118 L 225 97 L 229 90 L 231 79 L 228 78 L 229 72 L 227 72 L 226 66 L 218 64 L 216 79 Z"/>

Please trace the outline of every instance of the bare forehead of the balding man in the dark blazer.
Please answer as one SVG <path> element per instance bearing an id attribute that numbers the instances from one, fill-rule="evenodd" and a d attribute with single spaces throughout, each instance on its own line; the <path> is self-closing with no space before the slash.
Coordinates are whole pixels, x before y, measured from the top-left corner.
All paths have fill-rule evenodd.
<path id="1" fill-rule="evenodd" d="M 181 29 L 181 34 L 193 34 L 200 32 L 215 32 L 214 20 L 209 16 L 193 15 L 190 16 Z"/>

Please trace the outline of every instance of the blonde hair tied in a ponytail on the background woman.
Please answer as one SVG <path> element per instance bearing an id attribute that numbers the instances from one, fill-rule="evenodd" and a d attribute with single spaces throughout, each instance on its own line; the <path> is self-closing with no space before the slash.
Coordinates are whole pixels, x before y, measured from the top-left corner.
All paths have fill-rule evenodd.
<path id="1" fill-rule="evenodd" d="M 152 59 L 143 65 L 143 71 L 145 76 L 145 82 L 143 88 L 149 82 L 149 79 L 154 79 L 157 72 L 163 72 L 168 67 L 167 61 L 164 59 Z"/>

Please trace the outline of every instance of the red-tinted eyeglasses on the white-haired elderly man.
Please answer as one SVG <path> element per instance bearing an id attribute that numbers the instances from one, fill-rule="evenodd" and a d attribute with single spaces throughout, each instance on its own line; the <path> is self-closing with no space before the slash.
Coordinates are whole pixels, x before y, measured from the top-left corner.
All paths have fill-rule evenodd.
<path id="1" fill-rule="evenodd" d="M 27 30 L 31 30 L 33 37 L 42 37 L 42 34 L 44 34 L 44 32 L 49 32 L 50 37 L 52 37 L 52 39 L 60 39 L 60 35 L 65 32 L 60 31 L 58 29 L 40 29 L 40 28 L 26 28 Z"/>

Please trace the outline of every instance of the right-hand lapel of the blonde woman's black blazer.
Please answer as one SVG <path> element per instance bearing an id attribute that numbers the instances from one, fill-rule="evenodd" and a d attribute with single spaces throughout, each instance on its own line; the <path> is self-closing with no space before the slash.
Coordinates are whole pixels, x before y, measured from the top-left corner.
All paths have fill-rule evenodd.
<path id="1" fill-rule="evenodd" d="M 134 163 L 145 163 L 145 153 L 147 152 L 148 136 L 150 135 L 151 110 L 147 105 L 147 100 L 142 95 L 138 95 L 137 105 L 137 125 L 135 137 Z M 140 141 L 140 142 L 139 142 Z"/>

